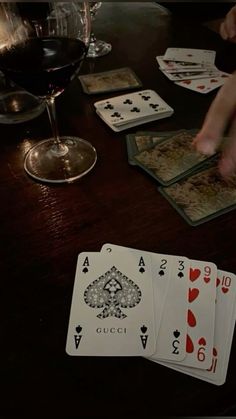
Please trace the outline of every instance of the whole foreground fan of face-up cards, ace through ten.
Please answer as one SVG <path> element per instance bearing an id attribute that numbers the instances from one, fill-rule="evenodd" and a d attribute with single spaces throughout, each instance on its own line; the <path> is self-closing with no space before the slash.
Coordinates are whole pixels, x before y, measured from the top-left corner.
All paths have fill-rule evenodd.
<path id="1" fill-rule="evenodd" d="M 211 262 L 105 244 L 78 257 L 66 351 L 143 356 L 225 382 L 236 277 Z"/>

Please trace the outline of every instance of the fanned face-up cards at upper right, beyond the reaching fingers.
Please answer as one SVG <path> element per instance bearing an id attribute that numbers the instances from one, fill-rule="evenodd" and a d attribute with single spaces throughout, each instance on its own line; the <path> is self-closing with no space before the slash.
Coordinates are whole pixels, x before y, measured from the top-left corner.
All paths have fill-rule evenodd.
<path id="1" fill-rule="evenodd" d="M 222 86 L 228 73 L 216 68 L 215 51 L 168 48 L 165 55 L 156 57 L 159 69 L 178 86 L 199 93 L 209 93 Z"/>

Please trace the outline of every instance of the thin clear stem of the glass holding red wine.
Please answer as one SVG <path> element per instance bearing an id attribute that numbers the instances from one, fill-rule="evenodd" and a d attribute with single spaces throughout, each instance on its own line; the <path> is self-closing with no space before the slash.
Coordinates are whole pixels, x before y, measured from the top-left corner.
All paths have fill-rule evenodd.
<path id="1" fill-rule="evenodd" d="M 55 98 L 54 97 L 47 98 L 46 106 L 47 106 L 49 121 L 51 124 L 53 140 L 54 140 L 52 152 L 56 154 L 58 157 L 64 156 L 68 152 L 68 148 L 66 147 L 66 145 L 62 144 L 60 141 L 58 124 L 57 124 L 57 116 L 56 116 Z"/>

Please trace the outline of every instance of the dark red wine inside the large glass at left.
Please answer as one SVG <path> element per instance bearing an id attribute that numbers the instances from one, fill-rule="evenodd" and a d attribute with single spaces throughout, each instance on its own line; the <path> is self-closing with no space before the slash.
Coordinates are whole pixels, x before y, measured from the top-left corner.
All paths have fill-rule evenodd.
<path id="1" fill-rule="evenodd" d="M 6 49 L 0 56 L 0 68 L 36 96 L 57 96 L 78 74 L 86 51 L 79 39 L 31 38 Z"/>

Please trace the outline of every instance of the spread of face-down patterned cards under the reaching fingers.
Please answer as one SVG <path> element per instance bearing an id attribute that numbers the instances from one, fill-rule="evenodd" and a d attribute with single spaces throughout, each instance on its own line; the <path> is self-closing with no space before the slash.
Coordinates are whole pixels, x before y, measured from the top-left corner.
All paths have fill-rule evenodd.
<path id="1" fill-rule="evenodd" d="M 200 154 L 196 130 L 137 132 L 126 136 L 129 163 L 157 180 L 159 192 L 192 226 L 236 208 L 236 179 L 223 179 L 219 153 Z M 226 139 L 225 139 L 226 140 Z"/>

